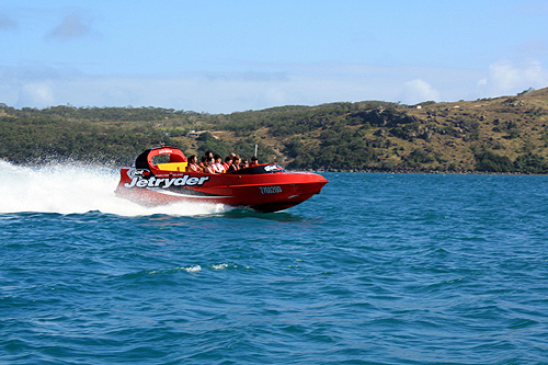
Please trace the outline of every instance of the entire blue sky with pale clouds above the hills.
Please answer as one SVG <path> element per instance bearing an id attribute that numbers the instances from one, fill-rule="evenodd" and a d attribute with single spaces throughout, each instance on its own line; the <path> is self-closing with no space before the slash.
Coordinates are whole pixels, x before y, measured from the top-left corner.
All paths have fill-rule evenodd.
<path id="1" fill-rule="evenodd" d="M 548 87 L 548 1 L 0 0 L 0 103 L 232 113 Z"/>

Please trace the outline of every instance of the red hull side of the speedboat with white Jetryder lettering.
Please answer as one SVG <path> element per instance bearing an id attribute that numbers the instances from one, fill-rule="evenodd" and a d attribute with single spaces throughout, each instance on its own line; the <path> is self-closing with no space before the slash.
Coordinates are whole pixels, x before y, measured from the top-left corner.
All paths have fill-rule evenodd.
<path id="1" fill-rule="evenodd" d="M 141 204 L 169 204 L 179 201 L 252 206 L 274 212 L 299 204 L 318 194 L 328 181 L 313 173 L 205 174 L 156 171 L 136 175 L 122 169 L 116 194 Z"/>

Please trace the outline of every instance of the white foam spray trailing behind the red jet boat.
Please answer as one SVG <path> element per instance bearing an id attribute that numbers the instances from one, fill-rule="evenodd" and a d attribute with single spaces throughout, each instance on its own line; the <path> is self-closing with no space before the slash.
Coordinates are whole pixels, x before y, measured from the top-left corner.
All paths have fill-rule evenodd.
<path id="1" fill-rule="evenodd" d="M 167 214 L 194 216 L 222 213 L 222 204 L 176 203 L 145 207 L 115 196 L 119 172 L 98 166 L 54 164 L 44 168 L 0 161 L 0 213 L 81 214 L 99 210 L 121 216 Z"/>

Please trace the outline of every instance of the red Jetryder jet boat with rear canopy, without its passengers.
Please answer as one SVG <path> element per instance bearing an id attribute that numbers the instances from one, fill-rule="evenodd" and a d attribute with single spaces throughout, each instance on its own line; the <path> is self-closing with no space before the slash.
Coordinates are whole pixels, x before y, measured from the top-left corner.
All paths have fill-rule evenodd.
<path id="1" fill-rule="evenodd" d="M 185 201 L 276 212 L 319 194 L 329 182 L 316 173 L 288 172 L 277 163 L 218 174 L 187 172 L 186 163 L 186 157 L 176 147 L 147 149 L 132 167 L 121 170 L 115 193 L 144 205 Z"/>

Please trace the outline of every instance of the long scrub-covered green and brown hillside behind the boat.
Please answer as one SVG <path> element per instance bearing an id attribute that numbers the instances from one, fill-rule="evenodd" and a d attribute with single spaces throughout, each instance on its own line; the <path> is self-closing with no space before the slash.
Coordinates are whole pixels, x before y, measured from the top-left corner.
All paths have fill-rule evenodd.
<path id="1" fill-rule="evenodd" d="M 367 101 L 216 115 L 0 104 L 0 158 L 26 164 L 127 164 L 159 144 L 249 158 L 256 144 L 261 161 L 299 170 L 548 173 L 548 89 L 457 103 Z"/>

